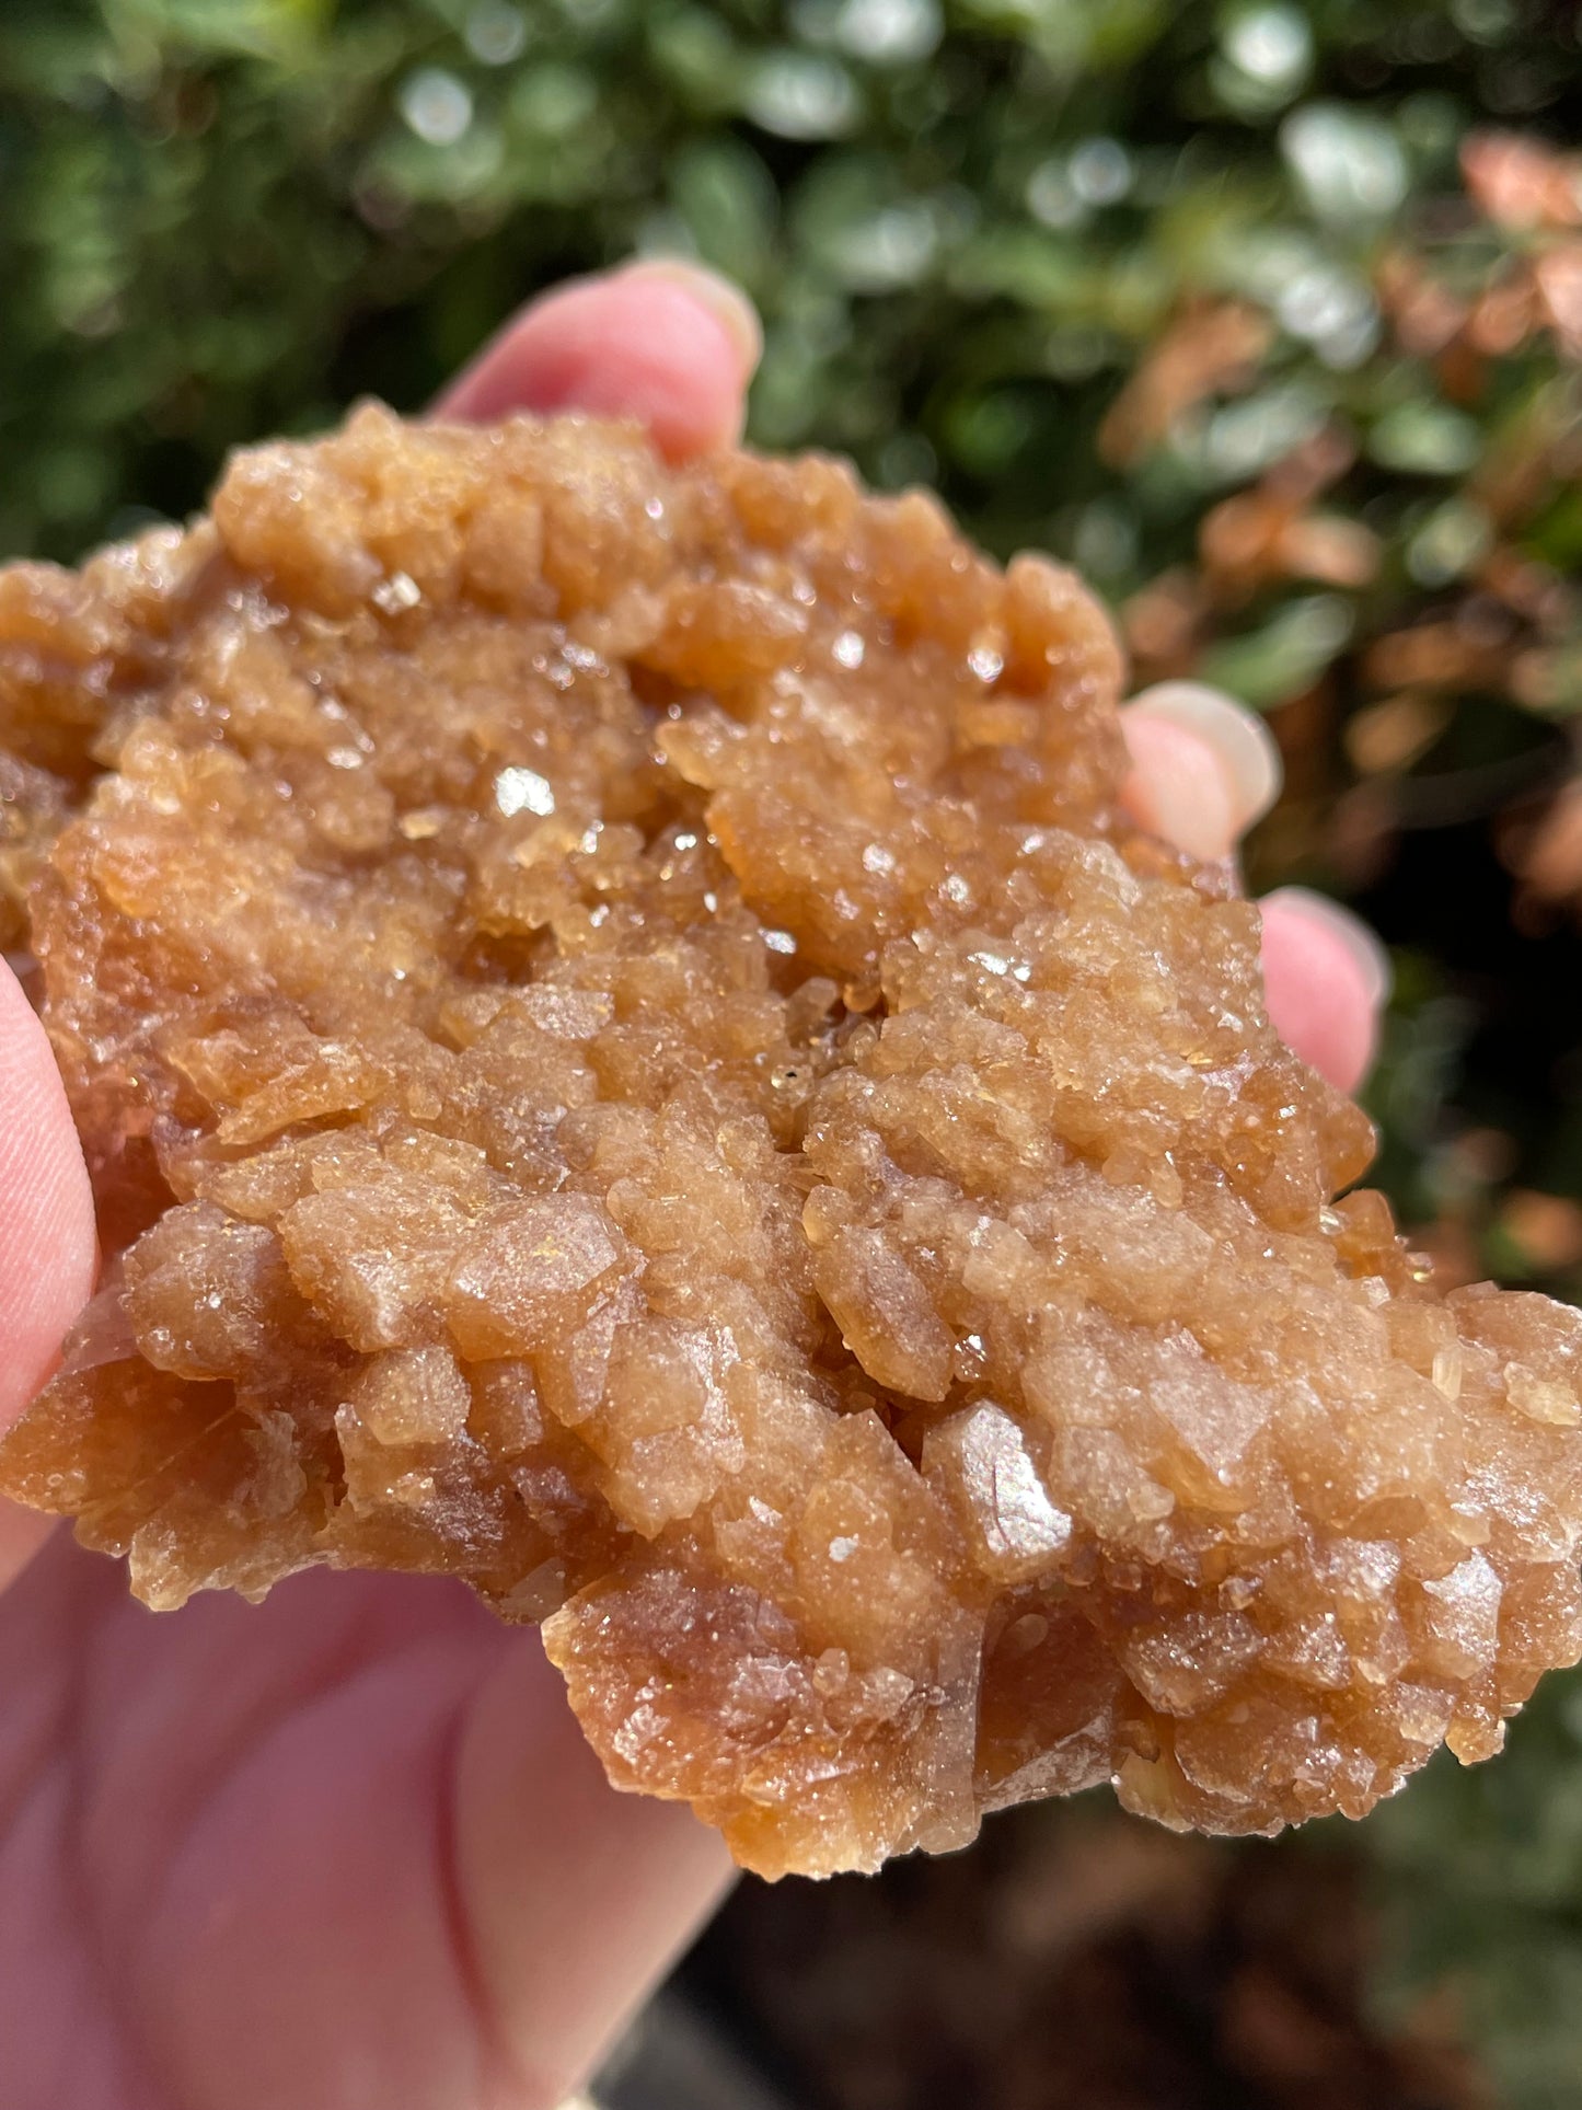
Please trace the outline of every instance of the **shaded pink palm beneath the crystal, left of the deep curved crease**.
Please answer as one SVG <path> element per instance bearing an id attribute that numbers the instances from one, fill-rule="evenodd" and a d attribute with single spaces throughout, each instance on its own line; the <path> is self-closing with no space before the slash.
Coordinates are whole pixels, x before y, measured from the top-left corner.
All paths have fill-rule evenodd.
<path id="1" fill-rule="evenodd" d="M 542 2099 L 548 2078 L 513 2072 L 498 2038 L 458 1865 L 481 1815 L 458 1756 L 502 1673 L 538 1684 L 534 1658 L 464 1591 L 392 1576 L 156 1618 L 59 1534 L 0 1599 L 15 2099 Z"/>

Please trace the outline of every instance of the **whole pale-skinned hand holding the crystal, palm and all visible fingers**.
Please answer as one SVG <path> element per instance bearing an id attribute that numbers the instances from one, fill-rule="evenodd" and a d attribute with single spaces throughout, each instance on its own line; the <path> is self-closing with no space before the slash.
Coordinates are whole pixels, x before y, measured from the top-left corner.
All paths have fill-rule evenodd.
<path id="1" fill-rule="evenodd" d="M 740 293 L 635 266 L 536 302 L 441 411 L 738 437 Z M 1278 789 L 1228 698 L 1128 707 L 1135 814 L 1232 855 Z M 1344 1089 L 1384 996 L 1350 918 L 1266 903 L 1270 1011 Z M 97 1266 L 49 1044 L 0 966 L 0 1428 Z M 8 1585 L 8 1587 L 6 1587 Z M 0 2074 L 8 2110 L 551 2110 L 707 1918 L 730 1863 L 614 1794 L 529 1633 L 466 1591 L 306 1574 L 154 1616 L 0 1504 Z"/>

